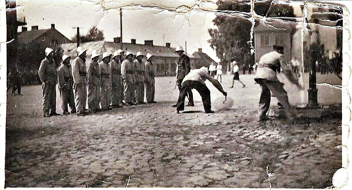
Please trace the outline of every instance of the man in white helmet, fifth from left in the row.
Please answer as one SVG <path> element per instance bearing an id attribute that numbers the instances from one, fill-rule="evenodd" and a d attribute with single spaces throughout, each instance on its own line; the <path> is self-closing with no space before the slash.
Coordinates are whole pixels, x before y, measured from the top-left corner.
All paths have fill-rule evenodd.
<path id="1" fill-rule="evenodd" d="M 99 75 L 100 75 L 100 105 L 103 111 L 110 110 L 111 100 L 111 76 L 110 76 L 110 55 L 109 53 L 103 53 L 101 62 L 99 63 Z"/>

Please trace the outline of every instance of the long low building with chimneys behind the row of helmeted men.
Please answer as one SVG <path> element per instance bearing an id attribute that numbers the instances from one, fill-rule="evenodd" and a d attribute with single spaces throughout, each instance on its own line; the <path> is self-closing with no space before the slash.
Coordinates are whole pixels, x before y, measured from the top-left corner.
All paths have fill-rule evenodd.
<path id="1" fill-rule="evenodd" d="M 93 50 L 96 50 L 98 53 L 102 54 L 104 52 L 113 53 L 120 49 L 119 38 L 114 39 L 115 42 L 106 42 L 106 41 L 96 41 L 96 42 L 87 42 L 81 43 L 80 46 L 84 49 L 87 49 L 87 59 L 90 61 L 90 55 Z M 144 44 L 136 44 L 135 39 L 131 39 L 131 43 L 122 43 L 122 49 L 125 51 L 131 51 L 133 54 L 136 54 L 138 51 L 142 52 L 144 55 L 151 53 L 155 56 L 153 64 L 156 70 L 156 76 L 174 76 L 176 75 L 176 63 L 178 61 L 178 55 L 175 53 L 175 48 L 170 47 L 170 43 L 166 43 L 165 46 L 156 46 L 153 45 L 152 40 L 145 40 Z M 67 43 L 61 45 L 64 53 L 71 56 L 71 58 L 77 57 L 76 54 L 76 43 Z M 196 63 L 196 59 L 192 55 L 190 57 L 191 67 Z M 100 57 L 101 58 L 101 57 Z M 145 56 L 143 62 L 145 62 Z"/>

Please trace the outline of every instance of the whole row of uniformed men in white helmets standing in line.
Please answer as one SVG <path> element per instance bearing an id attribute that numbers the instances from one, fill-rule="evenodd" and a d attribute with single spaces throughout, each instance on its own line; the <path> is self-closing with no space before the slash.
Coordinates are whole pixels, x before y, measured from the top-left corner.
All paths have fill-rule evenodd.
<path id="1" fill-rule="evenodd" d="M 63 114 L 69 113 L 68 105 L 71 113 L 86 115 L 89 111 L 95 113 L 100 110 L 120 108 L 123 105 L 142 104 L 144 86 L 146 86 L 147 102 L 156 103 L 153 55 L 148 53 L 147 61 L 143 63 L 142 53 L 137 52 L 136 59 L 133 61 L 133 53 L 127 51 L 125 56 L 125 52 L 120 49 L 112 55 L 103 53 L 102 61 L 98 63 L 101 55 L 93 50 L 92 61 L 86 63 L 86 52 L 87 50 L 78 47 L 78 56 L 72 65 L 70 65 L 70 57 L 63 55 L 62 65 L 56 71 L 52 58 L 53 50 L 45 49 L 45 58 L 38 71 L 43 82 L 44 117 L 59 115 L 56 113 L 57 81 L 62 97 Z M 87 97 L 89 110 L 86 110 Z"/>

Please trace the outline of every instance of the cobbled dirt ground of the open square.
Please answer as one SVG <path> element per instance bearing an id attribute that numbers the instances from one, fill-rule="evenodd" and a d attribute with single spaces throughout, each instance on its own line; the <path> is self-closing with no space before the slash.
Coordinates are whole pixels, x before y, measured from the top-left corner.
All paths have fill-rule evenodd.
<path id="1" fill-rule="evenodd" d="M 320 77 L 320 82 L 338 83 L 333 76 Z M 341 167 L 341 119 L 259 123 L 260 88 L 253 75 L 240 78 L 246 88 L 235 84 L 228 89 L 231 76 L 223 76 L 234 106 L 214 114 L 203 112 L 196 91 L 195 107 L 175 114 L 174 77 L 156 78 L 156 104 L 84 117 L 43 118 L 40 86 L 23 87 L 23 96 L 8 93 L 5 185 L 269 188 L 268 166 L 275 173 L 272 188 L 331 186 Z M 286 87 L 291 102 L 304 101 Z M 320 98 L 322 104 L 341 96 L 337 89 L 319 88 L 319 93 L 328 92 L 320 97 L 333 97 Z M 209 89 L 212 100 L 221 97 Z M 57 97 L 57 112 L 62 113 Z"/>

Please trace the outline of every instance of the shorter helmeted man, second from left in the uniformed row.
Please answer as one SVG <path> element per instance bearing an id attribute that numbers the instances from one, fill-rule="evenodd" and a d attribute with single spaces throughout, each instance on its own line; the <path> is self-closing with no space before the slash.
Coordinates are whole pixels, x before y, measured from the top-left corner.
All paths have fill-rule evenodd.
<path id="1" fill-rule="evenodd" d="M 57 69 L 57 79 L 59 82 L 59 90 L 61 94 L 61 107 L 63 114 L 69 114 L 68 106 L 71 108 L 71 113 L 76 113 L 75 97 L 73 94 L 73 77 L 70 64 L 71 57 L 62 56 L 62 65 Z"/>

